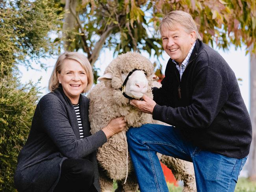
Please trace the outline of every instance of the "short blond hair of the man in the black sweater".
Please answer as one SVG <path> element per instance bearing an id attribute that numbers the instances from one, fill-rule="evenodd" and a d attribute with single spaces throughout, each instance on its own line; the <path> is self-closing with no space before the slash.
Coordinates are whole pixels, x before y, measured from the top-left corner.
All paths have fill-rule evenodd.
<path id="1" fill-rule="evenodd" d="M 162 33 L 163 26 L 166 26 L 168 29 L 173 30 L 176 28 L 176 24 L 180 24 L 183 26 L 187 33 L 191 33 L 192 31 L 196 31 L 196 39 L 202 41 L 202 37 L 199 35 L 197 31 L 197 26 L 191 15 L 184 11 L 171 11 L 160 23 L 159 31 Z"/>

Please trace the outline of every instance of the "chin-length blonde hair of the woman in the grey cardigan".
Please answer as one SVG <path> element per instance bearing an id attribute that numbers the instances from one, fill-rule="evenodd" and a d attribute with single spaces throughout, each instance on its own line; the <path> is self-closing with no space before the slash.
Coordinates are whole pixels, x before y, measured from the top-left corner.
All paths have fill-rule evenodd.
<path id="1" fill-rule="evenodd" d="M 52 71 L 52 75 L 49 79 L 48 89 L 52 92 L 59 87 L 57 72 L 59 74 L 61 73 L 63 61 L 67 59 L 72 59 L 82 65 L 82 67 L 86 72 L 87 80 L 88 80 L 88 84 L 86 88 L 83 90 L 83 93 L 90 90 L 93 85 L 93 70 L 91 68 L 91 64 L 88 61 L 87 57 L 85 57 L 85 55 L 78 52 L 65 52 L 59 55 L 59 58 L 57 59 L 54 69 Z"/>

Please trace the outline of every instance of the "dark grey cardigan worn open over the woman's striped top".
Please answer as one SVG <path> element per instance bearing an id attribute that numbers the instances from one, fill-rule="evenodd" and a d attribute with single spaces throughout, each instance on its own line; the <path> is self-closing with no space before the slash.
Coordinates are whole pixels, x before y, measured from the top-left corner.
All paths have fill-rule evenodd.
<path id="1" fill-rule="evenodd" d="M 90 134 L 88 108 L 89 100 L 81 94 L 79 109 L 85 138 L 80 139 L 74 107 L 62 87 L 41 98 L 28 140 L 18 156 L 14 182 L 19 192 L 52 192 L 59 181 L 61 164 L 67 158 L 92 161 L 94 185 L 100 191 L 95 151 L 107 138 L 103 131 Z"/>

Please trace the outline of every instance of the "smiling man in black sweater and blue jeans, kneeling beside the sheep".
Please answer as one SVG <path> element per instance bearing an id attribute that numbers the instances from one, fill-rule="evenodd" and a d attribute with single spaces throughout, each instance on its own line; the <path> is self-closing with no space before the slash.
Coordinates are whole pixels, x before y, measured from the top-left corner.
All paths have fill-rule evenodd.
<path id="1" fill-rule="evenodd" d="M 131 100 L 155 120 L 127 133 L 141 192 L 167 192 L 156 152 L 193 162 L 198 192 L 233 192 L 252 139 L 248 111 L 226 61 L 202 43 L 193 18 L 172 11 L 160 24 L 171 57 L 154 100 Z"/>

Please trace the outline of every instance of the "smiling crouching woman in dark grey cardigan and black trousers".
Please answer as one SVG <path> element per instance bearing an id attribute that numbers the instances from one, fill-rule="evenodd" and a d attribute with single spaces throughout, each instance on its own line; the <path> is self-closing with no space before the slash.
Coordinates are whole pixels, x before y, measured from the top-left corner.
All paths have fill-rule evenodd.
<path id="1" fill-rule="evenodd" d="M 18 156 L 14 182 L 19 192 L 100 191 L 95 151 L 126 123 L 119 117 L 90 134 L 89 100 L 81 93 L 92 84 L 91 65 L 83 54 L 59 56 L 49 80 L 51 92 L 37 104 Z"/>

